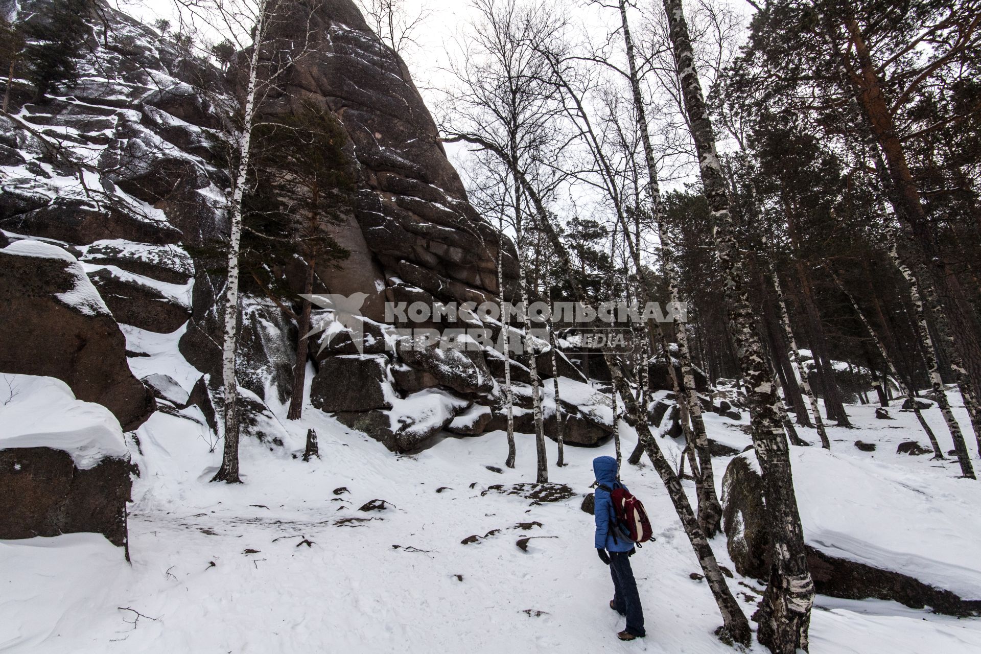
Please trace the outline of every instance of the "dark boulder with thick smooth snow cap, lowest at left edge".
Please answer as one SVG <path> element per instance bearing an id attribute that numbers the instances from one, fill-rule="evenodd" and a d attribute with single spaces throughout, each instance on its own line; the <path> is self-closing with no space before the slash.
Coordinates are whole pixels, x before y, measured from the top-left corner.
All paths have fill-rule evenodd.
<path id="1" fill-rule="evenodd" d="M 95 531 L 125 546 L 131 465 L 116 418 L 53 377 L 0 380 L 0 538 Z"/>

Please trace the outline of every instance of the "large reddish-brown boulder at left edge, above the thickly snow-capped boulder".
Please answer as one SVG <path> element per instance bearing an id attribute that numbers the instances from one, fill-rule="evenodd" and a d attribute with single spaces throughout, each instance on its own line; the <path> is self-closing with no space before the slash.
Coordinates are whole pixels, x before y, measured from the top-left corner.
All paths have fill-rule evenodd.
<path id="1" fill-rule="evenodd" d="M 153 413 L 129 371 L 126 338 L 76 258 L 36 240 L 0 250 L 0 373 L 57 377 L 124 429 Z"/>

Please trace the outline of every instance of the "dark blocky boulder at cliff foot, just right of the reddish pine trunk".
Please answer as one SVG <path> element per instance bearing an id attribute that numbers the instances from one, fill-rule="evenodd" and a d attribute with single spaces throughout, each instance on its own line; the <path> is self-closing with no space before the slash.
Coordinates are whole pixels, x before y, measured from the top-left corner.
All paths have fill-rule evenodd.
<path id="1" fill-rule="evenodd" d="M 313 378 L 310 403 L 328 412 L 390 409 L 390 399 L 395 393 L 388 381 L 387 369 L 388 358 L 384 354 L 328 357 L 321 362 L 320 370 Z M 344 424 L 354 427 L 347 422 Z"/>

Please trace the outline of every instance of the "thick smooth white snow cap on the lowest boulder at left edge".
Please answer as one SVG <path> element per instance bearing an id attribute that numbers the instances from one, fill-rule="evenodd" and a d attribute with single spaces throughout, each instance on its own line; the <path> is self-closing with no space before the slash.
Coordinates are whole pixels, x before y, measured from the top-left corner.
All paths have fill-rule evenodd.
<path id="1" fill-rule="evenodd" d="M 77 400 L 61 379 L 0 375 L 0 449 L 68 452 L 78 470 L 129 457 L 119 421 L 100 404 Z"/>

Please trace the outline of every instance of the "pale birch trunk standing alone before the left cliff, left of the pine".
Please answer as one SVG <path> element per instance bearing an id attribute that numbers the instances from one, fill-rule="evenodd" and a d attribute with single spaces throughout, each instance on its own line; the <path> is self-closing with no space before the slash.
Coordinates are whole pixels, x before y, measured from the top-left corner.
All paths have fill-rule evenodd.
<path id="1" fill-rule="evenodd" d="M 225 446 L 222 465 L 212 481 L 241 483 L 238 477 L 238 380 L 235 377 L 235 349 L 238 331 L 238 255 L 242 236 L 242 197 L 248 176 L 252 145 L 252 124 L 255 119 L 255 96 L 259 75 L 259 52 L 265 36 L 267 0 L 260 0 L 256 36 L 249 59 L 248 85 L 245 90 L 245 110 L 242 116 L 241 137 L 238 140 L 238 170 L 232 190 L 232 229 L 229 235 L 229 280 L 225 289 L 225 333 L 222 346 L 222 385 L 225 388 Z"/>

